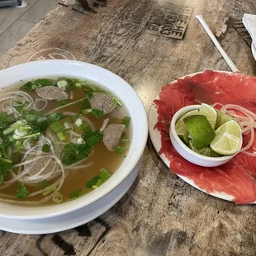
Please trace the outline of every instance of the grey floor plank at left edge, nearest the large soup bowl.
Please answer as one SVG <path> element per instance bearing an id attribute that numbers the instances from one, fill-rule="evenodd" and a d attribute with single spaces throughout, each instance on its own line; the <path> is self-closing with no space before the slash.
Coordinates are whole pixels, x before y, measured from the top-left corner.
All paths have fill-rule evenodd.
<path id="1" fill-rule="evenodd" d="M 33 26 L 35 26 L 35 23 L 21 20 L 17 20 L 9 26 L 7 30 L 0 35 L 0 56 L 6 54 Z"/>

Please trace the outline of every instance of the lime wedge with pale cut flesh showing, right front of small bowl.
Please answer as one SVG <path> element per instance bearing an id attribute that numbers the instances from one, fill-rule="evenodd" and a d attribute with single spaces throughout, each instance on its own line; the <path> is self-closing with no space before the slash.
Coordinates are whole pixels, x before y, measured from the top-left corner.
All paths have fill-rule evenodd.
<path id="1" fill-rule="evenodd" d="M 230 120 L 216 130 L 216 137 L 211 141 L 210 147 L 218 154 L 235 154 L 239 150 L 241 139 L 241 127 L 235 120 Z"/>

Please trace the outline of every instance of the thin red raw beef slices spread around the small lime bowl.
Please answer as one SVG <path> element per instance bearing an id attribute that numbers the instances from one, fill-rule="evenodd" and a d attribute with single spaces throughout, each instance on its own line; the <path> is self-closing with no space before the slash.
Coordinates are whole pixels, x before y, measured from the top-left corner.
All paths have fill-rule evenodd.
<path id="1" fill-rule="evenodd" d="M 159 114 L 155 129 L 160 131 L 162 141 L 159 154 L 169 159 L 173 173 L 192 179 L 206 192 L 225 192 L 237 204 L 256 201 L 256 158 L 240 153 L 227 164 L 206 168 L 188 162 L 173 149 L 168 127 L 174 113 L 181 107 L 201 102 L 237 104 L 256 113 L 256 78 L 207 70 L 164 86 L 159 100 L 154 101 Z M 249 138 L 244 136 L 246 140 Z M 256 151 L 256 139 L 249 150 Z"/>

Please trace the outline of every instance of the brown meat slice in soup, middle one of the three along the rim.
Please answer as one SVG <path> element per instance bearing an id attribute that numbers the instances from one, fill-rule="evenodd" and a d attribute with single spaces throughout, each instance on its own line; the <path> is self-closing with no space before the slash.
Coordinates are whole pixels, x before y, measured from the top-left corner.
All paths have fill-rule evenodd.
<path id="1" fill-rule="evenodd" d="M 104 92 L 95 92 L 90 99 L 92 108 L 103 111 L 104 115 L 109 114 L 116 110 L 116 105 L 112 102 L 111 98 Z"/>

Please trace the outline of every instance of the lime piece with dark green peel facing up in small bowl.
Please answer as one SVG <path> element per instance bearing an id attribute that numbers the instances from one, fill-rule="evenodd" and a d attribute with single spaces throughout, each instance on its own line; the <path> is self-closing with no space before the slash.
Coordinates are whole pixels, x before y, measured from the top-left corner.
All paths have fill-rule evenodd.
<path id="1" fill-rule="evenodd" d="M 187 116 L 183 119 L 183 121 L 196 149 L 206 147 L 211 143 L 211 140 L 214 139 L 215 131 L 212 129 L 206 116 Z"/>

